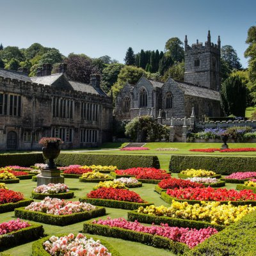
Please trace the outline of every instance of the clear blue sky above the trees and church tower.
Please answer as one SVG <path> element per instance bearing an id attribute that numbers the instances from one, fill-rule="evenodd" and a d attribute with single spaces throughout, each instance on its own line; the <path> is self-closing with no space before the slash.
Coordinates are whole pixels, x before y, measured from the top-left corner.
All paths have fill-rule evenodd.
<path id="1" fill-rule="evenodd" d="M 134 52 L 164 50 L 174 36 L 193 44 L 212 42 L 236 49 L 243 67 L 247 31 L 256 26 L 254 0 L 0 0 L 0 42 L 29 47 L 38 42 L 64 55 L 109 55 L 123 62 Z"/>

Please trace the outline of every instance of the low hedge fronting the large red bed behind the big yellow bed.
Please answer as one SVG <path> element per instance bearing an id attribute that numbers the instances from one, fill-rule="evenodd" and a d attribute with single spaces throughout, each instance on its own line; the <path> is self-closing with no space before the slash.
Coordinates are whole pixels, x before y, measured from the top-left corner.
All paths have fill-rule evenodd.
<path id="1" fill-rule="evenodd" d="M 178 199 L 176 197 L 168 195 L 166 192 L 161 193 L 161 199 L 164 200 L 167 204 L 172 204 L 172 200 L 175 200 L 177 202 L 188 202 L 189 204 L 201 204 L 203 200 L 188 200 L 188 199 Z M 214 202 L 214 201 L 206 201 L 204 202 Z M 218 201 L 220 204 L 228 204 L 230 202 L 232 205 L 256 205 L 256 201 L 248 200 L 248 201 Z"/>

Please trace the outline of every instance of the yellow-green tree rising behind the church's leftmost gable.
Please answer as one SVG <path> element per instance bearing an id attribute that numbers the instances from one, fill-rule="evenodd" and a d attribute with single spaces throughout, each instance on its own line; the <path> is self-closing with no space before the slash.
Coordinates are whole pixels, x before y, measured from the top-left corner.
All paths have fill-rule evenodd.
<path id="1" fill-rule="evenodd" d="M 140 77 L 145 74 L 148 76 L 147 72 L 143 68 L 137 68 L 134 66 L 125 66 L 120 70 L 118 74 L 116 83 L 112 86 L 113 97 L 116 98 L 116 95 L 124 87 L 125 83 L 136 84 Z"/>

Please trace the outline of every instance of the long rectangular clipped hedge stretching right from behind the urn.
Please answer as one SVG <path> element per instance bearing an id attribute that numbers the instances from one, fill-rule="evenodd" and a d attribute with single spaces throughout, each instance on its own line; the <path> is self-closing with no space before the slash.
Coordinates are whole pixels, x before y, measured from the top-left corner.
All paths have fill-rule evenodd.
<path id="1" fill-rule="evenodd" d="M 118 169 L 132 167 L 154 167 L 160 168 L 157 156 L 136 156 L 136 155 L 111 155 L 111 154 L 85 154 L 85 153 L 63 153 L 54 160 L 58 166 L 69 166 L 70 164 L 80 165 L 102 165 L 117 166 Z M 37 162 L 39 163 L 39 162 Z M 42 163 L 42 162 L 41 162 Z"/>

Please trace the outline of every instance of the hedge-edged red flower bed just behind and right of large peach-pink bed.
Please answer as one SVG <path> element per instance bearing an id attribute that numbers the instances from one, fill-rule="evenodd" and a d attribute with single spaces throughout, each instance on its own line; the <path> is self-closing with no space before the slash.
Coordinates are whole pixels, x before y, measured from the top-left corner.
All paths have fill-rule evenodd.
<path id="1" fill-rule="evenodd" d="M 129 210 L 138 209 L 140 206 L 150 205 L 150 203 L 141 199 L 140 195 L 134 191 L 115 188 L 99 188 L 88 193 L 86 197 L 79 198 L 79 201 Z"/>

